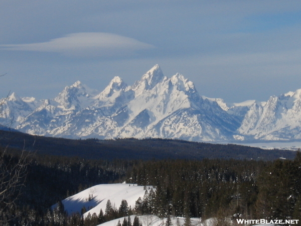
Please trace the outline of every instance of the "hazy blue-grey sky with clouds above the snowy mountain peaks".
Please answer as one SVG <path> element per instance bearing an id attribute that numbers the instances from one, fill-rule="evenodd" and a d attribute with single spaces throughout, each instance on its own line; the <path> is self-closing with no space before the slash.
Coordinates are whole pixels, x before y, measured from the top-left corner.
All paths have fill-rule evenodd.
<path id="1" fill-rule="evenodd" d="M 2 0 L 0 21 L 0 97 L 131 85 L 155 64 L 227 102 L 301 88 L 300 1 Z"/>

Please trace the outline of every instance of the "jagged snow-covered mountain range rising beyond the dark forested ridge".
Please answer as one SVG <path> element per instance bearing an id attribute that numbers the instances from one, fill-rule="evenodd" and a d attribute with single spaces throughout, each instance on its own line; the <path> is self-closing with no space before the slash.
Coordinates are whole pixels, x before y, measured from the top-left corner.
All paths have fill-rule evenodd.
<path id="1" fill-rule="evenodd" d="M 164 76 L 159 65 L 131 86 L 116 76 L 101 92 L 77 81 L 53 99 L 12 93 L 0 101 L 0 124 L 32 135 L 197 142 L 301 139 L 301 89 L 266 102 L 229 104 L 201 96 L 179 73 Z"/>

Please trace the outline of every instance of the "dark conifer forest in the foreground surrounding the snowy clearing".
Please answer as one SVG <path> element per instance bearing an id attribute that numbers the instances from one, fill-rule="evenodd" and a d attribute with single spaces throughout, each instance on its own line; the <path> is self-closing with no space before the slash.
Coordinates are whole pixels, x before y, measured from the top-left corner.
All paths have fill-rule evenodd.
<path id="1" fill-rule="evenodd" d="M 4 151 L 2 148 L 1 153 Z M 20 152 L 7 149 L 2 156 L 3 165 L 21 158 Z M 18 199 L 10 204 L 0 203 L 1 225 L 92 226 L 131 213 L 202 219 L 301 217 L 300 152 L 294 160 L 272 162 L 233 159 L 108 161 L 38 154 L 30 154 L 26 161 L 27 176 L 24 181 L 20 180 L 22 192 Z M 5 180 L 0 179 L 1 183 Z M 70 216 L 60 202 L 93 185 L 123 181 L 145 186 L 144 197 L 136 201 L 133 209 L 126 208 L 123 202 L 123 207 L 103 210 L 84 220 L 81 217 L 84 210 Z M 148 185 L 156 189 L 148 189 Z M 51 209 L 55 203 L 57 207 Z"/>

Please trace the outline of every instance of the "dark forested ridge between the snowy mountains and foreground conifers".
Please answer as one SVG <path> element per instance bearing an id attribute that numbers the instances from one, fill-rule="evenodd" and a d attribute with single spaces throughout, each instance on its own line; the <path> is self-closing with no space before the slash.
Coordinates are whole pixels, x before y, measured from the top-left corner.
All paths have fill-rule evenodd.
<path id="1" fill-rule="evenodd" d="M 0 146 L 85 159 L 293 159 L 295 152 L 167 139 L 72 140 L 0 131 Z"/>

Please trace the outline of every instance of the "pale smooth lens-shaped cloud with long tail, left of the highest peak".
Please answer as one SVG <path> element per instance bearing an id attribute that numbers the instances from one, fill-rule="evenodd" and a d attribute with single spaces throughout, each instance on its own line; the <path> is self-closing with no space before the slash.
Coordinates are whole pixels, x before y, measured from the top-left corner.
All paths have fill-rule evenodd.
<path id="1" fill-rule="evenodd" d="M 72 33 L 48 42 L 0 45 L 2 50 L 56 52 L 79 57 L 129 56 L 155 46 L 111 33 Z"/>

